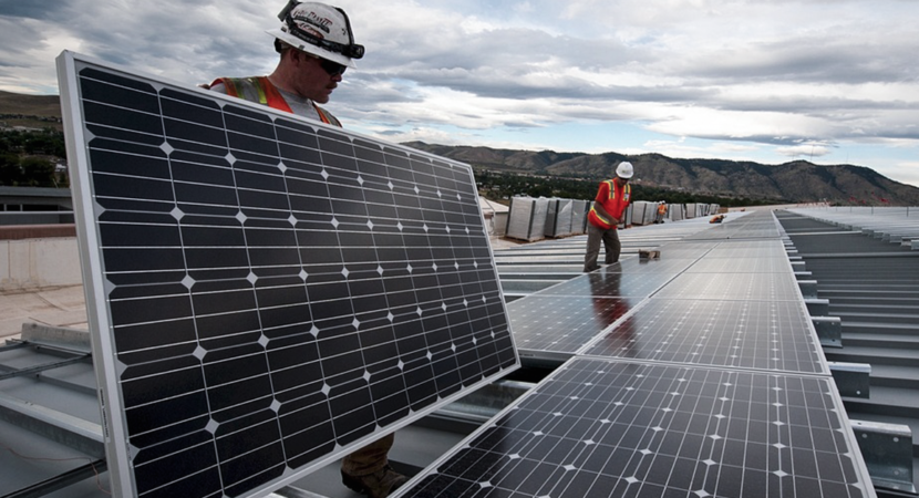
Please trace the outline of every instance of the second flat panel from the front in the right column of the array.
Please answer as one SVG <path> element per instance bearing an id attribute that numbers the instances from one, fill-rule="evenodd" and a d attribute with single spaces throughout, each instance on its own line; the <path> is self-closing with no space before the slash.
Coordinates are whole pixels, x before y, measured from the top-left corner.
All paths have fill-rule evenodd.
<path id="1" fill-rule="evenodd" d="M 579 354 L 828 374 L 798 301 L 650 299 Z"/>

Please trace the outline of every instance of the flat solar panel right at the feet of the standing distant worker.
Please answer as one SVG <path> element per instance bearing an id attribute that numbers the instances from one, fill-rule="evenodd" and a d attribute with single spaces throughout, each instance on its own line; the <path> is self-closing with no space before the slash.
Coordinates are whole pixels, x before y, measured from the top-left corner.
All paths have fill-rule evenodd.
<path id="1" fill-rule="evenodd" d="M 535 295 L 648 297 L 673 278 L 674 273 L 621 272 L 617 264 L 576 277 L 539 291 Z"/>

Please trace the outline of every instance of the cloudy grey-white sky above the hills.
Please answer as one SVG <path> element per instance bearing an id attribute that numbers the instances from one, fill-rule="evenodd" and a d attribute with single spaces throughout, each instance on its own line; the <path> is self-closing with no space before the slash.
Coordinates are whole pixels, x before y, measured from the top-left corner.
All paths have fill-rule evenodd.
<path id="1" fill-rule="evenodd" d="M 392 142 L 871 167 L 919 186 L 916 0 L 335 0 L 327 106 Z M 281 0 L 0 0 L 0 90 L 62 50 L 196 84 L 269 73 Z M 638 172 L 640 176 L 640 172 Z"/>

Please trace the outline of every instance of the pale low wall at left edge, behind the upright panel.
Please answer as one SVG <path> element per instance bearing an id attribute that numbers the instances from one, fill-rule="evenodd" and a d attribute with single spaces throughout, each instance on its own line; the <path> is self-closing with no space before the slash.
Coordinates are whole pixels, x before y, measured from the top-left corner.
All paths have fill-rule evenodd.
<path id="1" fill-rule="evenodd" d="M 0 240 L 0 292 L 82 282 L 76 237 Z"/>

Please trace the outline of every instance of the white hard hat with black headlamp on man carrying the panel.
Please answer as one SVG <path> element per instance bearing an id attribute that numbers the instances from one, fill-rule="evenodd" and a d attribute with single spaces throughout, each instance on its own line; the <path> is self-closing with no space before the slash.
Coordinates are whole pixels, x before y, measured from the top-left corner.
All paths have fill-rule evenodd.
<path id="1" fill-rule="evenodd" d="M 338 7 L 289 0 L 278 14 L 281 27 L 266 33 L 297 50 L 354 68 L 352 59 L 364 56 L 364 46 L 354 43 L 348 14 Z"/>

